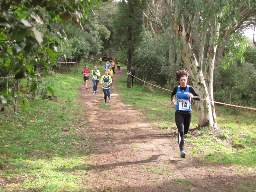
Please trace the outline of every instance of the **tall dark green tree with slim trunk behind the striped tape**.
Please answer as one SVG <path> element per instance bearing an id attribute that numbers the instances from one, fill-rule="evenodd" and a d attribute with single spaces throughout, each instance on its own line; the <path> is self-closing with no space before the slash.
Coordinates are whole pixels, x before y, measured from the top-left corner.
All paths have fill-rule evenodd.
<path id="1" fill-rule="evenodd" d="M 127 52 L 127 69 L 132 67 L 132 54 L 142 41 L 143 3 L 139 0 L 122 0 L 118 4 L 117 18 L 113 21 L 115 28 L 114 41 L 116 47 Z M 127 88 L 131 88 L 131 76 L 127 76 Z"/>

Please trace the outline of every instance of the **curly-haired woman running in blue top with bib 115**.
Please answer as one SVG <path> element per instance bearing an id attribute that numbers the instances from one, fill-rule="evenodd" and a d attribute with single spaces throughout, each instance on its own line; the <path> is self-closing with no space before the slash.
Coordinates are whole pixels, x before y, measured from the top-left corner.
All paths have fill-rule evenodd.
<path id="1" fill-rule="evenodd" d="M 176 71 L 175 76 L 180 83 L 180 86 L 174 87 L 171 95 L 171 103 L 175 104 L 175 94 L 177 96 L 177 105 L 175 108 L 175 123 L 178 128 L 178 142 L 180 146 L 180 156 L 184 158 L 184 135 L 188 133 L 189 125 L 191 122 L 191 98 L 200 101 L 201 98 L 195 89 L 189 85 L 187 70 Z"/>

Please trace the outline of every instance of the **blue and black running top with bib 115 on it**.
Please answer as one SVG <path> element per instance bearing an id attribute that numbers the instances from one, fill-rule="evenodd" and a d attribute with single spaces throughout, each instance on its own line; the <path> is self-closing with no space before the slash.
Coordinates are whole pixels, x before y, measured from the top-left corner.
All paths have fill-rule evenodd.
<path id="1" fill-rule="evenodd" d="M 193 94 L 193 99 L 201 100 L 200 96 L 197 94 L 195 89 L 189 85 L 186 87 L 175 87 L 172 92 L 172 100 L 174 100 L 175 94 L 177 96 L 177 105 L 175 110 L 178 111 L 191 111 L 191 98 L 188 97 L 188 93 Z"/>

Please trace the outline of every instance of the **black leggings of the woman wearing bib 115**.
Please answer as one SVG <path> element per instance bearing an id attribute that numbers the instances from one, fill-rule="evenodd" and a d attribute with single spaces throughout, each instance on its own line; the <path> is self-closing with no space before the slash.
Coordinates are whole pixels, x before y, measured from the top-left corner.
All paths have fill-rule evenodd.
<path id="1" fill-rule="evenodd" d="M 191 122 L 191 111 L 177 111 L 175 112 L 175 123 L 179 131 L 179 146 L 180 151 L 184 150 L 184 135 L 188 133 Z"/>

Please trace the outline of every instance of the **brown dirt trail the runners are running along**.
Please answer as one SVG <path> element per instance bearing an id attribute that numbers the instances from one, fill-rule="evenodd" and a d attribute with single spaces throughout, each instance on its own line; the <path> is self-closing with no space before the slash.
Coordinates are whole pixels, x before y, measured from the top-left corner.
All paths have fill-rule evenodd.
<path id="1" fill-rule="evenodd" d="M 232 184 L 239 179 L 232 167 L 204 164 L 190 157 L 193 146 L 187 142 L 187 158 L 180 158 L 176 128 L 163 133 L 139 108 L 124 104 L 115 84 L 124 73 L 122 69 L 116 72 L 107 106 L 100 83 L 97 95 L 92 94 L 91 78 L 87 90 L 84 84 L 79 86 L 89 126 L 84 135 L 94 140 L 88 153 L 92 156 L 84 165 L 93 170 L 85 176 L 87 182 L 80 184 L 88 186 L 88 191 L 110 192 L 239 191 Z"/>

